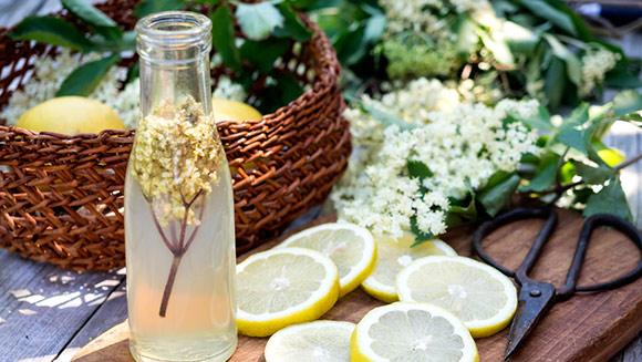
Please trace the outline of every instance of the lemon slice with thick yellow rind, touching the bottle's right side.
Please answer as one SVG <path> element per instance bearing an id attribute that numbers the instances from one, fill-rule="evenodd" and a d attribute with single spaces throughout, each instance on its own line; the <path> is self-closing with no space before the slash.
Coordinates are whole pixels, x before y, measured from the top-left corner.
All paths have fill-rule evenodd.
<path id="1" fill-rule="evenodd" d="M 336 267 L 319 251 L 279 248 L 237 266 L 239 333 L 266 337 L 323 316 L 339 297 Z"/>

